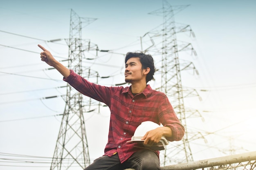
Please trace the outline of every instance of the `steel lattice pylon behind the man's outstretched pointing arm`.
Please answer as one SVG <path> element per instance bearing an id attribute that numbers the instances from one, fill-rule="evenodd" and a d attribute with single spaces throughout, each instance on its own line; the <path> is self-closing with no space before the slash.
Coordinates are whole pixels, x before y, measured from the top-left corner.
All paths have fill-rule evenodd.
<path id="1" fill-rule="evenodd" d="M 94 20 L 96 19 L 80 18 L 71 10 L 70 38 L 66 40 L 69 46 L 68 68 L 81 76 L 86 75 L 87 78 L 91 72 L 87 69 L 85 74 L 86 68 L 82 66 L 83 52 L 93 46 L 90 41 L 81 39 L 81 29 L 83 22 L 90 24 Z M 65 111 L 50 170 L 83 169 L 90 164 L 83 113 L 90 111 L 91 100 L 84 98 L 70 85 L 67 86 Z"/>

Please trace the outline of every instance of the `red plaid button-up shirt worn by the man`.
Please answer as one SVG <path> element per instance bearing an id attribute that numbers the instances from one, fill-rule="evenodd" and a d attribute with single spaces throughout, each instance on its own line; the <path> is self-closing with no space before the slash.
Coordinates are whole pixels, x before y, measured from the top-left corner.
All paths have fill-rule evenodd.
<path id="1" fill-rule="evenodd" d="M 106 87 L 88 82 L 86 79 L 70 70 L 70 76 L 63 79 L 77 91 L 105 103 L 110 108 L 110 127 L 105 154 L 108 156 L 118 153 L 121 163 L 126 161 L 134 152 L 136 144 L 127 144 L 135 129 L 143 121 L 153 121 L 171 128 L 172 137 L 169 141 L 179 141 L 184 136 L 184 127 L 180 124 L 167 96 L 155 90 L 150 85 L 135 96 L 130 87 Z M 159 154 L 159 151 L 157 151 Z"/>

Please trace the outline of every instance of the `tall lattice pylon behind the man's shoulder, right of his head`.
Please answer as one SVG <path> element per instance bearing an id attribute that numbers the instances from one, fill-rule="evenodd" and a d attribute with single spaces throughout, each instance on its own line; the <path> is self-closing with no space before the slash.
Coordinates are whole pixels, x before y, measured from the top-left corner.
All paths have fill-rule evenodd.
<path id="1" fill-rule="evenodd" d="M 175 12 L 179 12 L 186 8 L 188 5 L 183 6 L 171 6 L 166 0 L 163 0 L 162 9 L 151 12 L 150 14 L 163 16 L 163 24 L 160 30 L 153 30 L 144 35 L 141 38 L 146 39 L 146 35 L 150 40 L 146 44 L 151 43 L 144 52 L 150 51 L 150 54 L 157 56 L 157 62 L 161 62 L 161 84 L 157 90 L 165 93 L 170 99 L 173 108 L 179 117 L 182 125 L 185 127 L 186 132 L 182 141 L 171 142 L 166 150 L 161 151 L 160 159 L 161 163 L 169 165 L 171 163 L 182 163 L 193 161 L 193 156 L 190 147 L 190 140 L 202 137 L 200 133 L 191 132 L 187 128 L 186 119 L 192 116 L 198 116 L 197 111 L 187 110 L 184 106 L 184 97 L 186 96 L 198 96 L 194 89 L 185 89 L 182 87 L 181 71 L 186 69 L 193 69 L 195 73 L 198 73 L 193 63 L 180 62 L 179 53 L 181 51 L 190 50 L 196 55 L 192 45 L 190 43 L 178 44 L 176 34 L 189 31 L 193 36 L 193 32 L 189 25 L 177 24 L 174 20 Z M 157 39 L 158 38 L 158 39 Z M 141 42 L 142 44 L 142 42 Z M 142 48 L 142 45 L 141 45 Z M 156 60 L 156 57 L 154 57 Z M 199 114 L 200 116 L 200 114 Z M 189 131 L 189 132 L 188 132 Z M 198 137 L 198 134 L 200 135 Z"/>

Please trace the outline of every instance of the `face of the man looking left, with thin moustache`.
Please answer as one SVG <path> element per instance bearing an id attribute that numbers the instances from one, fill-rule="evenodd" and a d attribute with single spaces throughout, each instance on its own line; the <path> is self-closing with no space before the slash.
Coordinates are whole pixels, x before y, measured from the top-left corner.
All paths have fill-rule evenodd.
<path id="1" fill-rule="evenodd" d="M 132 57 L 125 64 L 125 81 L 128 83 L 141 81 L 146 75 L 143 74 L 142 64 L 137 57 Z"/>

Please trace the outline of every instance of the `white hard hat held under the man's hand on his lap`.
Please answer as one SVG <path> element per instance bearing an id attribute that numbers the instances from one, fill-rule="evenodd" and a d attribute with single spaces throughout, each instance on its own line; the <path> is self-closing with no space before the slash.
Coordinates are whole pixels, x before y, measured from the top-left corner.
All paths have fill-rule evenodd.
<path id="1" fill-rule="evenodd" d="M 139 143 L 142 144 L 143 147 L 149 148 L 151 150 L 164 150 L 166 145 L 168 145 L 168 141 L 163 136 L 160 141 L 156 145 L 145 145 L 144 140 L 141 140 L 142 137 L 146 134 L 146 132 L 156 129 L 160 127 L 159 124 L 154 123 L 153 121 L 144 121 L 142 122 L 135 130 L 134 135 L 132 136 L 130 141 L 127 143 Z"/>

